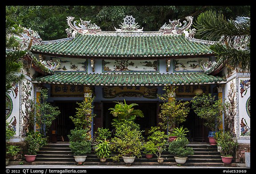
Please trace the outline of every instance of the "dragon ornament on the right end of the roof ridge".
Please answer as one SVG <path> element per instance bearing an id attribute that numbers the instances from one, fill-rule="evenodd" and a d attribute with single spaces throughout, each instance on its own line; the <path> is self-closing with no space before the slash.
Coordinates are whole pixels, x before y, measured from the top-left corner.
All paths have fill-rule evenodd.
<path id="1" fill-rule="evenodd" d="M 163 34 L 171 34 L 171 35 L 180 35 L 185 30 L 189 29 L 193 22 L 192 16 L 185 17 L 186 20 L 183 21 L 184 25 L 180 23 L 180 19 L 171 21 L 169 19 L 169 24 L 164 23 L 162 27 L 160 27 L 159 31 L 162 31 Z"/>

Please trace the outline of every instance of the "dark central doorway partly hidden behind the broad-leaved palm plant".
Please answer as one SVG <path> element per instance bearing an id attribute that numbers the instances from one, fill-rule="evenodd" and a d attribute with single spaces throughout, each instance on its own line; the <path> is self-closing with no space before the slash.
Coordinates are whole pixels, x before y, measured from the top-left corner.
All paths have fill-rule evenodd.
<path id="1" fill-rule="evenodd" d="M 140 129 L 143 130 L 143 134 L 146 137 L 147 131 L 152 127 L 156 126 L 156 116 L 157 116 L 157 102 L 145 102 L 145 101 L 126 101 L 127 104 L 136 103 L 137 106 L 134 106 L 134 109 L 140 109 L 144 117 L 137 117 L 135 123 L 140 124 Z M 102 107 L 102 112 L 99 111 L 99 107 L 94 109 L 94 113 L 102 114 L 98 115 L 94 118 L 94 131 L 96 131 L 96 127 L 100 127 L 99 123 L 102 123 L 102 128 L 109 128 L 112 131 L 112 120 L 115 118 L 110 113 L 109 108 L 114 108 L 117 103 L 113 101 L 102 102 L 102 104 L 97 104 L 97 106 Z M 101 121 L 100 121 L 101 120 Z"/>

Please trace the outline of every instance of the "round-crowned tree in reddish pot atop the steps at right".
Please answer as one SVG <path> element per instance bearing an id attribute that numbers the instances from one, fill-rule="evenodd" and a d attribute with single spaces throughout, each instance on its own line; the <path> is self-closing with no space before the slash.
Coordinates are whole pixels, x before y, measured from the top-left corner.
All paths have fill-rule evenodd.
<path id="1" fill-rule="evenodd" d="M 210 145 L 216 145 L 214 134 L 222 122 L 222 112 L 225 110 L 225 104 L 222 104 L 221 98 L 216 100 L 215 96 L 211 96 L 210 93 L 208 95 L 196 95 L 191 103 L 196 115 L 205 120 L 204 126 L 211 130 L 208 135 Z"/>

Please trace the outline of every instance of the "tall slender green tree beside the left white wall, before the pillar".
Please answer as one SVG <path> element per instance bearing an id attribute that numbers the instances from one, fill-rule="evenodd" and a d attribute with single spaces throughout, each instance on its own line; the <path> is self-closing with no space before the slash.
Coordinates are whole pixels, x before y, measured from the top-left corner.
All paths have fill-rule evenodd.
<path id="1" fill-rule="evenodd" d="M 48 89 L 41 89 L 39 97 L 40 103 L 35 104 L 36 123 L 40 125 L 39 131 L 44 137 L 52 125 L 52 121 L 60 114 L 57 106 L 52 106 L 48 101 Z"/>

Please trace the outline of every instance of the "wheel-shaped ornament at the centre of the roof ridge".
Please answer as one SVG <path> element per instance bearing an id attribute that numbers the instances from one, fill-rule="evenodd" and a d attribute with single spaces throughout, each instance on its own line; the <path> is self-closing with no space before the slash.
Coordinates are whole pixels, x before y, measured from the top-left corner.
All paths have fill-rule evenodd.
<path id="1" fill-rule="evenodd" d="M 143 27 L 141 29 L 138 29 L 140 25 L 138 23 L 135 23 L 135 18 L 132 17 L 132 15 L 126 15 L 124 18 L 124 22 L 121 23 L 120 29 L 115 27 L 116 32 L 143 32 Z"/>

